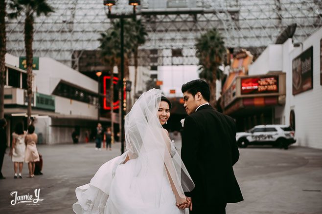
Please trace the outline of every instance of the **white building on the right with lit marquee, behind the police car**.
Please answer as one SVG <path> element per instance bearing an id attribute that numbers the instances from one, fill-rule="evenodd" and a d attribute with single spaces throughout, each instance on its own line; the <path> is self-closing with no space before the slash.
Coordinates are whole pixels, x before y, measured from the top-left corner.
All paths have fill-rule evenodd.
<path id="1" fill-rule="evenodd" d="M 249 112 L 251 108 L 245 108 L 245 101 L 242 101 L 242 106 L 226 107 L 226 112 L 232 116 L 239 112 L 237 118 L 246 122 L 246 125 L 241 125 L 244 128 L 248 120 L 252 120 L 252 124 L 247 128 L 263 123 L 290 125 L 295 129 L 296 145 L 322 149 L 322 28 L 298 44 L 288 39 L 283 44 L 269 45 L 250 65 L 249 75 L 237 77 L 235 87 L 232 84 L 228 90 L 243 90 L 238 79 L 259 78 L 254 84 L 244 85 L 245 90 L 256 87 L 258 91 L 260 79 L 276 77 L 276 74 L 278 79 L 269 85 L 273 91 L 267 96 L 263 96 L 264 93 L 258 93 L 259 97 L 250 95 L 253 109 L 260 111 L 263 120 Z M 274 87 L 278 90 L 274 91 Z M 272 97 L 274 93 L 278 95 L 276 101 L 266 100 L 265 97 Z M 268 109 L 266 115 L 264 109 Z"/>

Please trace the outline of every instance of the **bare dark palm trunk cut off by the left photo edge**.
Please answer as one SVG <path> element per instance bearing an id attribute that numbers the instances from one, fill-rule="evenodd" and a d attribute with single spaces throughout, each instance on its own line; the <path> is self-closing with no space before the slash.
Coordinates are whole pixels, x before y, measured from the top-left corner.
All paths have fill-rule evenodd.
<path id="1" fill-rule="evenodd" d="M 6 1 L 0 0 L 0 119 L 4 117 L 4 84 L 5 84 L 5 53 L 6 34 L 4 17 L 6 15 Z"/>

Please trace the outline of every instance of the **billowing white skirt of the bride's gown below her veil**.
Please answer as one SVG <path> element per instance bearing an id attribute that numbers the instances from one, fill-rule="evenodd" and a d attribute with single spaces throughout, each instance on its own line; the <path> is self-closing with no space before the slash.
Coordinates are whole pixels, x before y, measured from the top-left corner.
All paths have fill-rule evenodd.
<path id="1" fill-rule="evenodd" d="M 103 164 L 89 184 L 76 188 L 76 214 L 188 214 L 175 205 L 170 183 L 163 176 L 162 186 L 152 179 L 130 180 L 137 159 L 124 162 L 127 153 Z M 148 177 L 146 177 L 148 178 Z M 153 175 L 152 177 L 153 178 Z M 155 198 L 161 192 L 161 199 Z M 160 205 L 156 204 L 160 201 Z"/>

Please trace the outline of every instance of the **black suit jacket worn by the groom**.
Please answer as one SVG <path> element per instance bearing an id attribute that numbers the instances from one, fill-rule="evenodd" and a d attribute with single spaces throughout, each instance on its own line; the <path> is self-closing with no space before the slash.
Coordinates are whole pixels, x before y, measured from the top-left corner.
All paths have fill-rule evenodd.
<path id="1" fill-rule="evenodd" d="M 243 200 L 232 166 L 238 161 L 234 120 L 210 105 L 184 120 L 181 156 L 195 183 L 193 202 L 235 203 Z"/>

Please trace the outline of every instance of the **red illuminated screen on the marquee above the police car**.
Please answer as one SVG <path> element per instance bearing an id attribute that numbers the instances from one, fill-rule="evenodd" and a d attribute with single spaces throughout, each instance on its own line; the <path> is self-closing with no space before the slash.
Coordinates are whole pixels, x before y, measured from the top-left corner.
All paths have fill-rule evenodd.
<path id="1" fill-rule="evenodd" d="M 241 94 L 278 93 L 278 76 L 241 78 Z"/>

